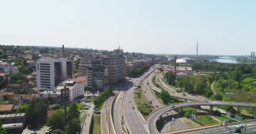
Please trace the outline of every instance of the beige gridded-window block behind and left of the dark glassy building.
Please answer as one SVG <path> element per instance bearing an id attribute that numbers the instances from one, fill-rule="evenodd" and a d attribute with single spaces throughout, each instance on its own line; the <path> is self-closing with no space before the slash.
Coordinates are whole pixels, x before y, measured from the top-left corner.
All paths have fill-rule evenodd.
<path id="1" fill-rule="evenodd" d="M 81 57 L 80 64 L 78 64 L 78 72 L 81 75 L 87 75 L 87 67 L 91 66 L 91 62 L 97 57 Z"/>

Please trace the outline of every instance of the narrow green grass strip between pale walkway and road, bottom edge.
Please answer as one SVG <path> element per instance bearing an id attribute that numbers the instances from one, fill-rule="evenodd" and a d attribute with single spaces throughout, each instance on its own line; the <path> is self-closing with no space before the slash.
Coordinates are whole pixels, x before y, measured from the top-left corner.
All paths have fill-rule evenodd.
<path id="1" fill-rule="evenodd" d="M 91 125 L 92 131 L 90 134 L 101 134 L 101 115 L 93 114 L 93 124 Z"/>

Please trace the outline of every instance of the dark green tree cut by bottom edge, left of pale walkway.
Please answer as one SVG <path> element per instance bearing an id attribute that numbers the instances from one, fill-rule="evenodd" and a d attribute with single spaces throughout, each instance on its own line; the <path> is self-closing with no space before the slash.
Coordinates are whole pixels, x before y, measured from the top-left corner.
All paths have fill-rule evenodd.
<path id="1" fill-rule="evenodd" d="M 80 134 L 81 130 L 81 125 L 80 125 L 80 119 L 75 118 L 72 119 L 68 122 L 68 127 L 67 127 L 67 133 L 68 134 Z"/>

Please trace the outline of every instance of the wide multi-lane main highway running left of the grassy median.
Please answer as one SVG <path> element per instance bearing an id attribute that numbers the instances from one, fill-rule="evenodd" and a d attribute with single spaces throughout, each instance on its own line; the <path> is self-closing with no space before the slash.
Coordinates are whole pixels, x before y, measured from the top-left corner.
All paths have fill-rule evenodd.
<path id="1" fill-rule="evenodd" d="M 141 117 L 141 115 L 139 115 L 139 111 L 134 103 L 133 92 L 137 87 L 133 86 L 133 84 L 139 85 L 141 79 L 152 71 L 153 69 L 149 70 L 149 72 L 145 73 L 139 78 L 133 78 L 132 82 L 128 82 L 128 84 L 118 88 L 123 92 L 117 96 L 113 107 L 113 122 L 117 134 L 125 133 L 121 128 L 120 120 L 122 119 L 122 115 L 128 131 L 131 134 L 148 134 L 148 131 L 145 129 L 146 124 L 144 119 Z M 135 109 L 132 108 L 133 106 Z"/>

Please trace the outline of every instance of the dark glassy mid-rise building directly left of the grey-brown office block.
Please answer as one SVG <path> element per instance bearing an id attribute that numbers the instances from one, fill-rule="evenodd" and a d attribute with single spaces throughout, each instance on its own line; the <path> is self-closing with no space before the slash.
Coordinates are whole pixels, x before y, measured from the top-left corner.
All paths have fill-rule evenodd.
<path id="1" fill-rule="evenodd" d="M 108 69 L 104 65 L 104 59 L 93 60 L 88 67 L 88 89 L 104 90 L 108 84 Z"/>

